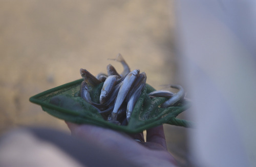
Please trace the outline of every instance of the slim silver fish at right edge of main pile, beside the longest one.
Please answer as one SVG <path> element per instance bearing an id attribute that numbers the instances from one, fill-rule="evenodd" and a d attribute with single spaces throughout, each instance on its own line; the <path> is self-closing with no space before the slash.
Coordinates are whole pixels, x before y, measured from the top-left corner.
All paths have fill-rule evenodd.
<path id="1" fill-rule="evenodd" d="M 138 80 L 138 81 L 137 81 Z M 127 122 L 130 121 L 130 117 L 131 117 L 131 114 L 133 112 L 133 109 L 134 109 L 134 106 L 135 104 L 137 103 L 140 95 L 141 95 L 141 92 L 142 90 L 145 88 L 145 85 L 146 85 L 146 74 L 144 72 L 142 72 L 140 74 L 140 77 L 136 80 L 136 83 L 135 83 L 135 86 L 129 94 L 130 97 L 127 102 L 127 107 L 126 107 L 126 120 Z"/>

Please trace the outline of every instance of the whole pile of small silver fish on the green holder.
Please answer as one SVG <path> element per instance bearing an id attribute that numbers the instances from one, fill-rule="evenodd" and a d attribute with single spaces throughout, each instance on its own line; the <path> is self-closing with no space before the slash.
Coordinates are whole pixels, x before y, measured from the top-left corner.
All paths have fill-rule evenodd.
<path id="1" fill-rule="evenodd" d="M 131 71 L 120 53 L 116 59 L 111 60 L 122 64 L 124 70 L 121 74 L 111 64 L 107 66 L 107 74 L 99 73 L 97 76 L 92 75 L 86 69 L 80 69 L 83 78 L 80 86 L 80 96 L 93 105 L 105 120 L 117 125 L 127 125 L 134 106 L 146 85 L 146 74 L 144 72 L 140 73 L 139 69 Z M 91 99 L 90 90 L 101 82 L 103 82 L 103 86 L 99 103 L 96 103 Z M 171 87 L 179 91 L 176 94 L 164 90 L 153 91 L 148 96 L 151 98 L 166 97 L 168 100 L 160 107 L 173 106 L 184 98 L 184 90 L 179 85 L 172 85 Z"/>

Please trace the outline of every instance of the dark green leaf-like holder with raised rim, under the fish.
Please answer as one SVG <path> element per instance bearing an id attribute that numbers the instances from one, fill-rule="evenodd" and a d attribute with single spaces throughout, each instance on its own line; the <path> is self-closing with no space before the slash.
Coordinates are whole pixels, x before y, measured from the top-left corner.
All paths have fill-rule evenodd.
<path id="1" fill-rule="evenodd" d="M 78 96 L 81 82 L 82 79 L 69 82 L 39 93 L 29 100 L 41 105 L 42 110 L 59 119 L 78 124 L 103 126 L 126 133 L 138 133 L 164 123 L 184 127 L 191 126 L 191 122 L 176 118 L 190 104 L 184 102 L 179 106 L 160 108 L 159 105 L 166 98 L 156 97 L 151 99 L 147 94 L 155 91 L 155 89 L 148 84 L 137 101 L 127 126 L 107 122 L 98 113 L 97 108 Z M 98 102 L 101 88 L 102 84 L 99 84 L 91 90 L 91 97 L 94 102 Z"/>

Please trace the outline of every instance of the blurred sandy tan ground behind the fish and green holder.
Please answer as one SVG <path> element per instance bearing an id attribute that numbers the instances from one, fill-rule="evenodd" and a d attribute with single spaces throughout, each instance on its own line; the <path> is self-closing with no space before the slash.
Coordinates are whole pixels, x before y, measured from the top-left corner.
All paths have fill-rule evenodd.
<path id="1" fill-rule="evenodd" d="M 174 26 L 174 1 L 0 1 L 0 133 L 27 125 L 68 132 L 29 98 L 79 79 L 80 68 L 122 71 L 108 60 L 119 52 L 156 89 L 182 85 Z M 165 132 L 168 150 L 186 166 L 187 129 L 166 125 Z"/>

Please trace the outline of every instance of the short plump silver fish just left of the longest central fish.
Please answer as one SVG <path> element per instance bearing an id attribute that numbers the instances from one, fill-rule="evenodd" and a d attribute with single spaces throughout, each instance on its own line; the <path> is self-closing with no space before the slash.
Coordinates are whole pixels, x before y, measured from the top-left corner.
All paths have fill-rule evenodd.
<path id="1" fill-rule="evenodd" d="M 106 100 L 109 98 L 110 94 L 112 93 L 115 87 L 117 78 L 119 78 L 119 76 L 110 75 L 104 81 L 99 97 L 100 104 L 106 102 Z"/>

